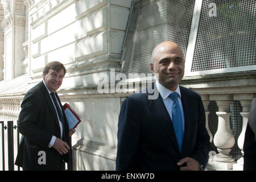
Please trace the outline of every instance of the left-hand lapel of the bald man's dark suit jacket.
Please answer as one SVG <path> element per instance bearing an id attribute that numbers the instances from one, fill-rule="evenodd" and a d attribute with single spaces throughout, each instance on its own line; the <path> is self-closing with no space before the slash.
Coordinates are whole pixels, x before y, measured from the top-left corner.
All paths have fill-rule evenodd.
<path id="1" fill-rule="evenodd" d="M 154 85 L 154 91 L 158 93 L 158 89 Z M 160 123 L 163 127 L 164 132 L 167 134 L 168 138 L 171 140 L 172 144 L 174 144 L 176 150 L 179 152 L 179 145 L 177 143 L 174 126 L 172 125 L 172 121 L 168 111 L 166 110 L 166 106 L 164 106 L 162 97 L 158 96 L 156 100 L 148 100 L 150 109 L 152 111 L 152 115 L 154 115 L 156 121 Z"/>

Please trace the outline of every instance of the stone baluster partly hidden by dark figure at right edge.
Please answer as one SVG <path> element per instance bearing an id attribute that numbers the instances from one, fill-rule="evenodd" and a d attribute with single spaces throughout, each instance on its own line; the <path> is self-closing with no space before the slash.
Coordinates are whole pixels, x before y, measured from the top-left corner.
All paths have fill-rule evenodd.
<path id="1" fill-rule="evenodd" d="M 251 100 L 253 100 L 253 94 L 234 94 L 234 100 L 240 100 L 242 106 L 242 112 L 240 113 L 242 121 L 242 131 L 237 139 L 237 145 L 240 148 L 243 155 L 243 143 L 245 142 L 245 131 L 247 127 L 247 122 L 250 114 Z M 233 170 L 242 171 L 243 170 L 243 157 L 237 160 L 237 164 L 233 164 Z"/>

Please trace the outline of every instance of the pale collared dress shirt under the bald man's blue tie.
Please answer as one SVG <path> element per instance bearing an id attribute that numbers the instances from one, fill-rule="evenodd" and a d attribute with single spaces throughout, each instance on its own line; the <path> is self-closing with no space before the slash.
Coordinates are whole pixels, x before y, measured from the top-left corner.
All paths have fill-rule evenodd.
<path id="1" fill-rule="evenodd" d="M 174 101 L 172 101 L 172 99 L 170 97 L 168 97 L 172 93 L 172 91 L 165 88 L 163 85 L 161 85 L 157 79 L 155 81 L 155 85 L 156 85 L 156 88 L 158 89 L 160 96 L 162 97 L 164 106 L 166 106 L 166 109 L 172 119 L 172 105 L 174 105 Z M 177 100 L 179 101 L 179 105 L 180 105 L 180 109 L 181 109 L 182 121 L 183 121 L 183 133 L 184 133 L 184 123 L 185 123 L 184 111 L 183 111 L 183 106 L 182 106 L 182 102 L 181 102 L 181 94 L 180 94 L 179 85 L 177 86 L 177 89 L 174 92 L 177 92 L 179 94 Z"/>

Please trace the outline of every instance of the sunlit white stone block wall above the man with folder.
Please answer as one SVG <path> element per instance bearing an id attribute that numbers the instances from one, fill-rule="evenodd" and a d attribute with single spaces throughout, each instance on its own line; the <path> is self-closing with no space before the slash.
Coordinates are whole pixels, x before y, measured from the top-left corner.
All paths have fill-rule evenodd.
<path id="1" fill-rule="evenodd" d="M 44 65 L 53 60 L 68 68 L 68 81 L 61 88 L 96 85 L 93 72 L 108 72 L 113 62 L 119 71 L 130 2 L 63 0 L 35 4 L 28 11 L 31 76 L 38 78 Z"/>

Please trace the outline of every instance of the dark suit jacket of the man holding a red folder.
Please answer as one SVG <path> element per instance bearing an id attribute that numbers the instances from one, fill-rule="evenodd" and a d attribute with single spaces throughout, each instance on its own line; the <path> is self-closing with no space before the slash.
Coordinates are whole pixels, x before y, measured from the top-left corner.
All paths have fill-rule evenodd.
<path id="1" fill-rule="evenodd" d="M 59 97 L 57 100 L 60 102 Z M 61 156 L 55 148 L 48 147 L 52 135 L 60 138 L 60 126 L 57 113 L 43 81 L 30 89 L 24 96 L 19 114 L 18 129 L 24 137 L 20 141 L 15 164 L 27 170 L 58 170 L 63 167 L 63 160 L 68 162 L 69 156 Z M 65 138 L 68 143 L 68 122 L 64 116 Z M 46 152 L 46 164 L 39 164 L 39 151 Z"/>

